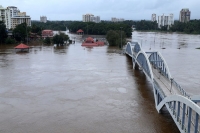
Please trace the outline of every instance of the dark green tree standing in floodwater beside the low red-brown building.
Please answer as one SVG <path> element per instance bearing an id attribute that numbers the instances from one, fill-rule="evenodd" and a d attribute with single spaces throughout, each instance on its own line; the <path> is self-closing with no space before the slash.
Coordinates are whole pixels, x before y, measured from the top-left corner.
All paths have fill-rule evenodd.
<path id="1" fill-rule="evenodd" d="M 68 35 L 64 34 L 64 33 L 59 33 L 56 34 L 54 37 L 53 37 L 53 43 L 54 44 L 58 44 L 58 45 L 63 45 L 65 41 L 68 41 L 69 40 L 69 37 Z"/>

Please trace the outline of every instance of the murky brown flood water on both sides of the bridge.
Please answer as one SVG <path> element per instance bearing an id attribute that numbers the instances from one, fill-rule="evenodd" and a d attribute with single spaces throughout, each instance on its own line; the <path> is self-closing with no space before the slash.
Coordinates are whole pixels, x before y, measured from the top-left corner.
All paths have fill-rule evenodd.
<path id="1" fill-rule="evenodd" d="M 1 46 L 0 132 L 179 132 L 166 110 L 157 113 L 152 85 L 128 56 L 108 46 L 84 48 L 82 38 L 74 39 L 21 54 Z M 199 35 L 133 32 L 132 41 L 160 51 L 175 80 L 200 94 Z"/>

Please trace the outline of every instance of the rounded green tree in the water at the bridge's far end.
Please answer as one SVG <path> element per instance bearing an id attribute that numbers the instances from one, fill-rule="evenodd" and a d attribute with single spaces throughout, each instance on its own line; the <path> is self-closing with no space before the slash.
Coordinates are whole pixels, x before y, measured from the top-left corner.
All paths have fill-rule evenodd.
<path id="1" fill-rule="evenodd" d="M 123 46 L 126 43 L 126 35 L 124 31 L 110 30 L 106 34 L 106 39 L 110 46 L 118 46 L 119 48 L 121 48 L 121 45 Z"/>

